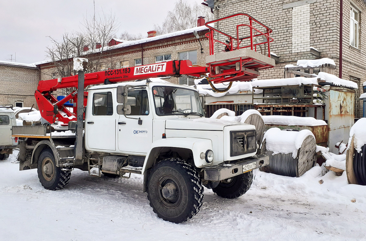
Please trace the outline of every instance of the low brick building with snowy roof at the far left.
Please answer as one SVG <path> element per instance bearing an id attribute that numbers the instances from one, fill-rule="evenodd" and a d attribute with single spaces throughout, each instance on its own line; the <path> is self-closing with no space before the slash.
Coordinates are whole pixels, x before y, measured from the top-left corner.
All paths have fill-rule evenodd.
<path id="1" fill-rule="evenodd" d="M 39 71 L 34 64 L 0 61 L 0 104 L 17 107 L 37 107 L 34 90 Z"/>

